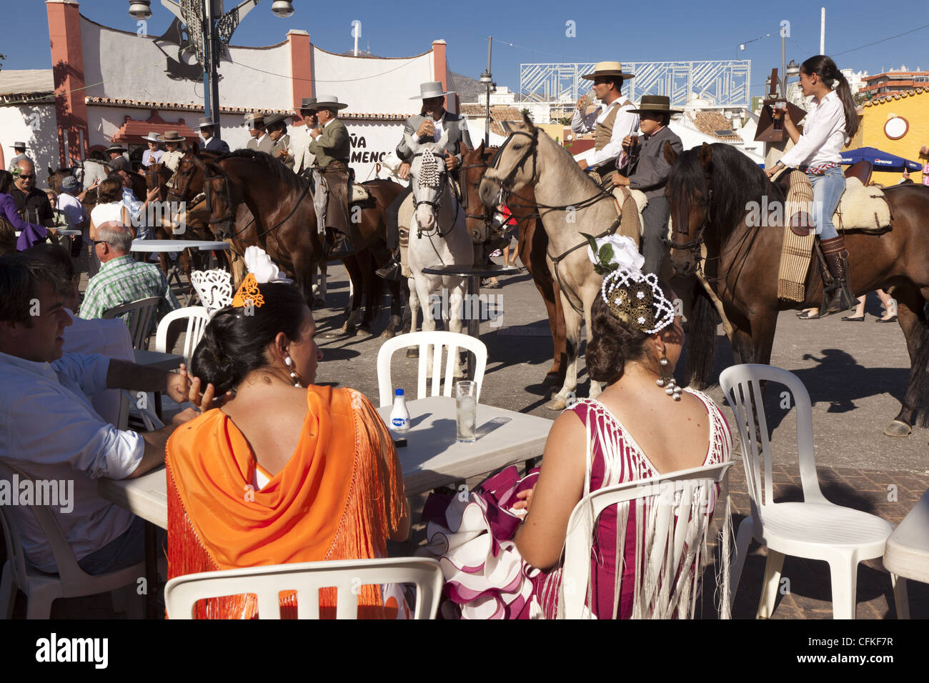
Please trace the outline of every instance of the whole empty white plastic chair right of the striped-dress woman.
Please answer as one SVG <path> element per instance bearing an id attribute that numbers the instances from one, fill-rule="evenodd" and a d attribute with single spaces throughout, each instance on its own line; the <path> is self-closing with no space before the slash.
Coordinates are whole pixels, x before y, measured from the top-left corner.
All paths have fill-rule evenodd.
<path id="1" fill-rule="evenodd" d="M 773 500 L 771 444 L 760 386 L 765 381 L 790 389 L 797 407 L 796 445 L 804 492 L 802 503 L 775 503 Z M 745 480 L 752 503 L 752 514 L 741 521 L 736 537 L 736 557 L 729 582 L 731 595 L 735 596 L 739 587 L 742 565 L 754 538 L 767 546 L 758 618 L 767 618 L 774 611 L 784 556 L 792 555 L 829 562 L 832 616 L 854 619 L 858 562 L 883 556 L 884 544 L 894 525 L 867 512 L 837 506 L 826 500 L 820 491 L 813 452 L 813 408 L 806 387 L 795 374 L 770 365 L 734 365 L 720 374 L 719 384 L 736 415 Z M 905 604 L 905 598 L 902 603 L 900 600 L 902 582 L 897 582 L 893 574 L 891 581 L 896 604 Z"/>

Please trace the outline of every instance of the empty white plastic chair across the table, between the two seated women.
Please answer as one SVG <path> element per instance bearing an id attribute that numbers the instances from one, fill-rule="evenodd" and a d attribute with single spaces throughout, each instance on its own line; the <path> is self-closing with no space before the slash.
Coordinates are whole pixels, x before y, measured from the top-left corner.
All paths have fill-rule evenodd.
<path id="1" fill-rule="evenodd" d="M 458 348 L 466 348 L 475 355 L 477 362 L 474 369 L 474 381 L 478 383 L 478 401 L 480 401 L 480 385 L 484 381 L 484 370 L 487 368 L 487 347 L 480 339 L 473 336 L 461 335 L 456 332 L 435 330 L 432 332 L 412 332 L 406 335 L 387 339 L 377 352 L 377 385 L 381 394 L 381 405 L 393 405 L 393 385 L 390 383 L 390 359 L 398 348 L 419 347 L 419 379 L 416 384 L 416 398 L 425 399 L 426 385 L 426 359 L 428 352 L 432 351 L 432 392 L 428 396 L 439 395 L 439 380 L 441 379 L 442 348 L 448 347 L 448 359 L 445 363 L 445 388 L 441 390 L 442 396 L 451 396 L 451 386 L 454 383 L 454 367 Z"/>

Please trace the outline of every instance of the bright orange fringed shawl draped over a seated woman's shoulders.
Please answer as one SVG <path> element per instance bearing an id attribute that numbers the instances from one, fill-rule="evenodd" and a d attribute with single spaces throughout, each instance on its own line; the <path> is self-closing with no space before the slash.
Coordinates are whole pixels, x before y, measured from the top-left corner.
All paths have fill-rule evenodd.
<path id="1" fill-rule="evenodd" d="M 405 495 L 397 450 L 370 401 L 353 389 L 308 387 L 297 450 L 258 491 L 255 456 L 229 417 L 211 410 L 182 427 L 166 449 L 168 575 L 386 557 Z M 296 615 L 283 594 L 282 616 Z M 334 616 L 335 591 L 320 596 Z M 384 616 L 378 586 L 365 585 L 360 616 Z M 254 596 L 203 600 L 197 616 L 255 616 Z M 389 615 L 388 615 L 389 616 Z"/>

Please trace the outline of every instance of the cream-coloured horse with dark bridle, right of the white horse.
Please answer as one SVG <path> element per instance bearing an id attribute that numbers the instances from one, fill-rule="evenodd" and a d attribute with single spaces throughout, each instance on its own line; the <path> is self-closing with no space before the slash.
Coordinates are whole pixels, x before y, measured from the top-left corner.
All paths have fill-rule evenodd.
<path id="1" fill-rule="evenodd" d="M 561 410 L 577 388 L 581 321 L 590 320 L 590 310 L 602 283 L 587 257 L 587 241 L 581 233 L 600 237 L 614 232 L 620 220 L 612 195 L 597 187 L 569 152 L 528 118 L 520 130 L 506 138 L 481 180 L 479 193 L 488 206 L 509 205 L 509 196 L 527 186 L 534 190 L 535 201 L 543 209 L 542 225 L 548 236 L 546 262 L 560 288 L 565 318 L 565 380 L 547 403 L 547 407 Z M 589 325 L 587 335 L 590 336 Z M 599 393 L 599 383 L 592 380 L 590 396 Z"/>

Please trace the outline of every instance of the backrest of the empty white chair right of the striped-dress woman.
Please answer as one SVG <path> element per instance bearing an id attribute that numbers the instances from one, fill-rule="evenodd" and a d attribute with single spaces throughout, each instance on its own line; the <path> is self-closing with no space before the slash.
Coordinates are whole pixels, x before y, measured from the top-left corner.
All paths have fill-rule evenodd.
<path id="1" fill-rule="evenodd" d="M 739 427 L 745 481 L 752 499 L 752 517 L 758 521 L 761 520 L 762 508 L 774 502 L 771 441 L 762 396 L 763 382 L 776 382 L 790 390 L 797 407 L 797 461 L 804 500 L 806 503 L 828 503 L 819 489 L 813 452 L 813 407 L 804 383 L 797 375 L 771 365 L 733 365 L 719 375 L 719 385 L 726 392 Z"/>

